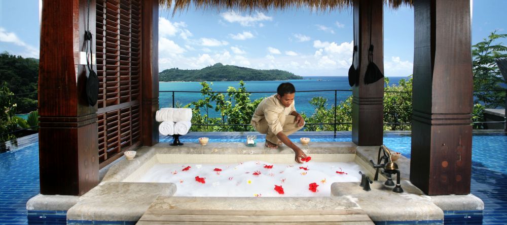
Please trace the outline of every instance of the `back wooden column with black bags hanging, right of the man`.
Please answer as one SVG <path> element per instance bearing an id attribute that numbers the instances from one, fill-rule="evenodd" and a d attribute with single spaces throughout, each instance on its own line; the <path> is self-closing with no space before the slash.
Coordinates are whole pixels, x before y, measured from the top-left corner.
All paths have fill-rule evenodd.
<path id="1" fill-rule="evenodd" d="M 354 65 L 360 62 L 360 67 L 359 84 L 352 87 L 352 141 L 358 146 L 382 145 L 384 79 L 365 84 L 370 43 L 374 45 L 373 62 L 384 72 L 382 1 L 354 1 L 353 16 L 354 44 L 358 48 L 353 60 Z"/>

